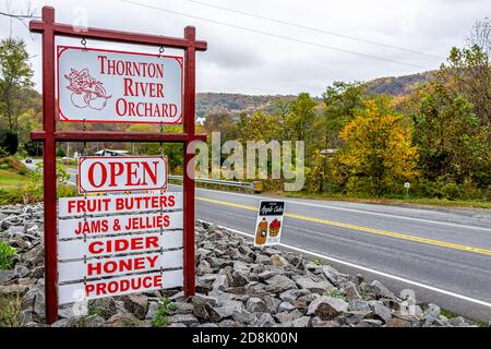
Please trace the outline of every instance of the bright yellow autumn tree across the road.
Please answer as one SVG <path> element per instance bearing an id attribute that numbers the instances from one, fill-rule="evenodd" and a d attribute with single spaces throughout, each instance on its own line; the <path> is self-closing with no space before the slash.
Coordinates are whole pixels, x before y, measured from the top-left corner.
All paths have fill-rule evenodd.
<path id="1" fill-rule="evenodd" d="M 381 195 L 402 188 L 417 174 L 417 148 L 400 116 L 382 113 L 368 101 L 362 115 L 340 132 L 338 171 L 348 192 Z"/>

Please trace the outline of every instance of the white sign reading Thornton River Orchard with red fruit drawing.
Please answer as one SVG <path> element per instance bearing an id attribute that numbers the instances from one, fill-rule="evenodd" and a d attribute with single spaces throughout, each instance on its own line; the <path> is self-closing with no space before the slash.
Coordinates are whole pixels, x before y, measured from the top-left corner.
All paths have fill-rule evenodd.
<path id="1" fill-rule="evenodd" d="M 182 57 L 57 49 L 60 121 L 182 123 Z"/>

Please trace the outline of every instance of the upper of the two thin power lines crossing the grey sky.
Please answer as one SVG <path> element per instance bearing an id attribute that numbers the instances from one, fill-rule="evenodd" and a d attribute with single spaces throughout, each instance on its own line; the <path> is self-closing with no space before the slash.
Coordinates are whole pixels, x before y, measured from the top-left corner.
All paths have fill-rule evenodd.
<path id="1" fill-rule="evenodd" d="M 283 24 L 283 25 L 287 25 L 287 26 L 291 26 L 291 27 L 297 27 L 297 28 L 301 28 L 301 29 L 306 29 L 306 31 L 310 31 L 310 32 L 316 32 L 316 33 L 333 35 L 333 36 L 337 36 L 337 37 L 342 37 L 342 38 L 345 38 L 345 39 L 350 39 L 350 40 L 355 40 L 355 41 L 359 41 L 359 43 L 376 45 L 376 46 L 380 46 L 380 47 L 391 48 L 391 49 L 400 50 L 400 51 L 405 51 L 405 52 L 410 52 L 410 53 L 415 53 L 415 55 L 421 55 L 421 56 L 428 56 L 428 57 L 433 57 L 433 58 L 445 59 L 445 57 L 438 56 L 438 55 L 432 55 L 432 53 L 428 53 L 428 52 L 417 51 L 417 50 L 408 49 L 408 48 L 405 48 L 405 47 L 387 45 L 387 44 L 378 43 L 378 41 L 373 41 L 373 40 L 367 40 L 367 39 L 362 39 L 362 38 L 350 36 L 350 35 L 345 35 L 345 34 L 340 34 L 340 33 L 330 32 L 330 31 L 325 31 L 325 29 L 322 29 L 322 28 L 316 28 L 316 27 L 312 27 L 312 26 L 308 26 L 308 25 L 303 25 L 303 24 L 292 23 L 292 22 L 288 22 L 288 21 L 284 21 L 284 20 L 267 17 L 267 16 L 263 16 L 263 15 L 260 15 L 260 14 L 246 12 L 246 11 L 239 11 L 239 10 L 225 8 L 225 7 L 220 7 L 220 5 L 216 5 L 216 4 L 212 4 L 212 3 L 207 3 L 207 2 L 202 2 L 202 1 L 196 1 L 196 0 L 184 0 L 184 1 L 196 3 L 196 4 L 200 4 L 200 5 L 203 5 L 203 7 L 207 7 L 207 8 L 213 8 L 213 9 L 218 9 L 218 10 L 223 10 L 223 11 L 228 11 L 228 12 L 231 12 L 231 13 L 238 13 L 238 14 L 242 14 L 242 15 L 247 15 L 247 16 L 250 16 L 250 17 L 260 19 L 260 20 L 264 20 L 264 21 L 268 21 L 268 22 L 273 22 L 273 23 L 278 23 L 278 24 Z"/>

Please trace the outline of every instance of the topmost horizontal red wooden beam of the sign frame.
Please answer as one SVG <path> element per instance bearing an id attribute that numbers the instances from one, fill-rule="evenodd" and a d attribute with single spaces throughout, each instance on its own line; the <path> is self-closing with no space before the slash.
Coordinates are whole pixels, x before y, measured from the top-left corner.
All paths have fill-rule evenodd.
<path id="1" fill-rule="evenodd" d="M 48 28 L 47 24 L 41 21 L 31 21 L 29 29 L 34 33 L 43 33 Z M 175 38 L 161 35 L 151 35 L 151 34 L 139 34 L 139 33 L 130 33 L 130 32 L 120 32 L 120 31 L 111 31 L 111 29 L 100 29 L 87 27 L 83 31 L 81 28 L 76 28 L 73 25 L 60 24 L 57 23 L 52 26 L 55 31 L 55 35 L 58 36 L 68 36 L 68 37 L 85 37 L 96 40 L 104 41 L 117 41 L 117 43 L 127 43 L 127 44 L 135 44 L 135 45 L 161 45 L 170 48 L 180 48 L 185 49 L 190 46 L 194 46 L 199 51 L 206 50 L 206 41 L 193 41 L 191 43 L 188 39 Z"/>

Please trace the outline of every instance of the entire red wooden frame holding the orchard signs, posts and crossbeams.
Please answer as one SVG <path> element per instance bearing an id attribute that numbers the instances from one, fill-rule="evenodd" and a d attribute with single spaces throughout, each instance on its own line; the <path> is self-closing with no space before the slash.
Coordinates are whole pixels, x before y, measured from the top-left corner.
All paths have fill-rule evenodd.
<path id="1" fill-rule="evenodd" d="M 206 135 L 195 133 L 195 51 L 205 51 L 206 41 L 196 40 L 195 28 L 187 26 L 183 38 L 119 32 L 100 28 L 76 28 L 56 23 L 55 9 L 43 8 L 40 21 L 31 21 L 29 31 L 43 34 L 43 131 L 31 132 L 33 141 L 43 142 L 44 159 L 44 204 L 45 204 L 45 297 L 46 322 L 58 320 L 58 256 L 57 256 L 57 142 L 166 142 L 183 144 L 183 273 L 184 296 L 194 294 L 194 173 L 193 153 L 188 153 L 188 144 L 206 141 Z M 184 50 L 184 132 L 147 133 L 111 131 L 57 131 L 58 116 L 56 105 L 56 47 L 55 37 L 76 37 L 134 45 L 163 46 Z"/>

